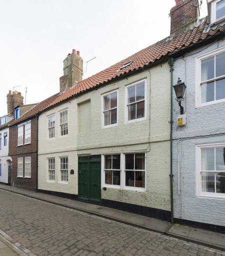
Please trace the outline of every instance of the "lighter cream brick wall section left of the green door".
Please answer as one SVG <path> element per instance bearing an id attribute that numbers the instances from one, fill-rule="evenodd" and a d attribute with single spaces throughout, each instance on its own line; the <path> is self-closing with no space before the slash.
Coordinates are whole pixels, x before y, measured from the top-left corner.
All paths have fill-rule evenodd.
<path id="1" fill-rule="evenodd" d="M 60 135 L 60 111 L 68 112 L 68 135 Z M 38 119 L 38 189 L 77 194 L 76 100 L 40 114 Z M 48 139 L 48 116 L 55 114 L 55 138 Z M 48 158 L 55 158 L 55 181 L 48 181 Z M 60 157 L 68 157 L 68 182 L 60 182 Z M 74 174 L 70 175 L 70 170 Z"/>

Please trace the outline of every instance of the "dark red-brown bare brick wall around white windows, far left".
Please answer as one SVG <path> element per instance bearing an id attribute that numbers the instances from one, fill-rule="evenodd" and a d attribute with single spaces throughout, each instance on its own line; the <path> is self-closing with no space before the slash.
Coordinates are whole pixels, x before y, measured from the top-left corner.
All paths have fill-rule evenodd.
<path id="1" fill-rule="evenodd" d="M 24 133 L 24 131 L 23 131 Z M 17 146 L 18 127 L 9 128 L 9 150 L 8 155 L 12 158 L 11 185 L 21 188 L 36 188 L 36 118 L 31 119 L 31 143 L 28 145 Z M 23 134 L 24 140 L 24 134 Z M 23 176 L 24 176 L 24 157 L 31 157 L 31 178 L 17 178 L 17 158 L 23 157 Z"/>

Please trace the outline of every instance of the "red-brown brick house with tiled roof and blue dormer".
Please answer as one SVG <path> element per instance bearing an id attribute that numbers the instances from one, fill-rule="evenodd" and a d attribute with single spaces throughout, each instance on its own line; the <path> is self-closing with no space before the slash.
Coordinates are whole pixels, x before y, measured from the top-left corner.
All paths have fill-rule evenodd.
<path id="1" fill-rule="evenodd" d="M 10 93 L 8 96 L 10 97 Z M 17 96 L 20 96 L 22 102 L 22 96 L 20 94 Z M 56 95 L 53 95 L 40 103 L 24 106 L 21 104 L 13 107 L 13 120 L 8 125 L 10 138 L 8 155 L 12 159 L 12 186 L 31 190 L 36 189 L 37 113 L 55 97 Z"/>

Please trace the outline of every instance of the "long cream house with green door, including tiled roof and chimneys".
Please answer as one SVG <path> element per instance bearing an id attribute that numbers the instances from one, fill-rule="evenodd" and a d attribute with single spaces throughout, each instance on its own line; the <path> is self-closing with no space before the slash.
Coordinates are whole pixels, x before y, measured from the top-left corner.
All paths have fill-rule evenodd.
<path id="1" fill-rule="evenodd" d="M 177 0 L 170 37 L 85 80 L 70 72 L 82 72 L 79 52 L 67 56 L 61 93 L 38 119 L 38 190 L 169 220 L 173 58 L 224 30 L 198 8 Z"/>

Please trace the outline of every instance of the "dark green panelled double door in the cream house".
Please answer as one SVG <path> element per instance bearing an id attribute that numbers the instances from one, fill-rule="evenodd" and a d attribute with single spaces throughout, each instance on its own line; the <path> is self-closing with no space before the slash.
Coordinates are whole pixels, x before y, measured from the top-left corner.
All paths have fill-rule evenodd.
<path id="1" fill-rule="evenodd" d="M 78 196 L 80 199 L 100 201 L 101 156 L 78 158 Z"/>

